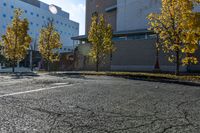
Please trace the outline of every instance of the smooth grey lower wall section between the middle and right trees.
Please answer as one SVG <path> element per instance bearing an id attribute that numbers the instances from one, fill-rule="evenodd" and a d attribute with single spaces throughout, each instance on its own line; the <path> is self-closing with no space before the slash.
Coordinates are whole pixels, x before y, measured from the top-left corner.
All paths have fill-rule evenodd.
<path id="1" fill-rule="evenodd" d="M 156 63 L 154 39 L 116 41 L 111 70 L 117 71 L 153 71 Z M 164 53 L 159 51 L 159 63 L 162 71 L 174 71 L 175 64 L 170 63 Z M 185 71 L 181 67 L 181 71 Z"/>

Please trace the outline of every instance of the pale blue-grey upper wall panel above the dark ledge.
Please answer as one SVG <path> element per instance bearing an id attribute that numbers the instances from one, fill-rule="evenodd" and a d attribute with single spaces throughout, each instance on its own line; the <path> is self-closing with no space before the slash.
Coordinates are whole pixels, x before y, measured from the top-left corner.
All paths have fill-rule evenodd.
<path id="1" fill-rule="evenodd" d="M 117 0 L 117 31 L 147 29 L 146 17 L 160 7 L 161 0 Z"/>

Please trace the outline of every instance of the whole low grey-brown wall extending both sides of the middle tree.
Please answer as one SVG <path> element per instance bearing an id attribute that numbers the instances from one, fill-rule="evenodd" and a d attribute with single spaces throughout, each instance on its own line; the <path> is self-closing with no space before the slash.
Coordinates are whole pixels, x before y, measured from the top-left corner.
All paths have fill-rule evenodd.
<path id="1" fill-rule="evenodd" d="M 156 63 L 155 40 L 115 41 L 116 51 L 106 57 L 100 64 L 100 70 L 112 71 L 154 71 Z M 76 51 L 76 70 L 95 70 L 96 65 L 88 56 L 90 44 L 79 45 Z M 175 64 L 167 60 L 165 54 L 159 52 L 159 63 L 162 71 L 175 71 Z M 181 67 L 186 71 L 186 67 Z"/>

